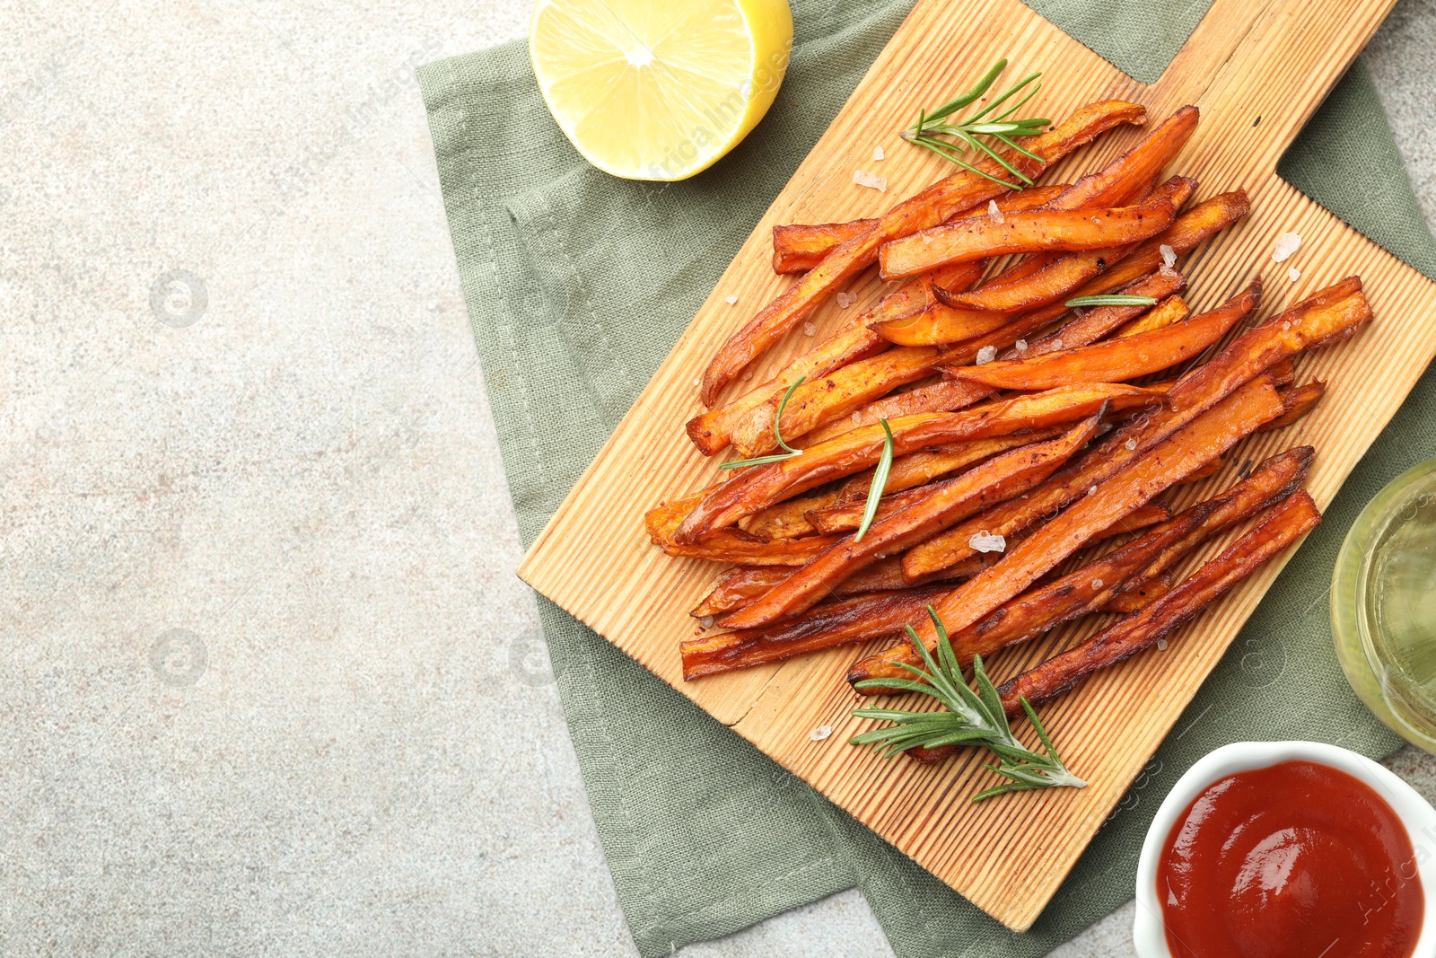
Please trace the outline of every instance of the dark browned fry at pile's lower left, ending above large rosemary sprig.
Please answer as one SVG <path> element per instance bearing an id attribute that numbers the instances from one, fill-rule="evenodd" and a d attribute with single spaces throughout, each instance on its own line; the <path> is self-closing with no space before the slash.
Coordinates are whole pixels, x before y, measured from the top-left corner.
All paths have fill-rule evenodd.
<path id="1" fill-rule="evenodd" d="M 688 639 L 679 645 L 684 679 L 778 662 L 794 655 L 864 642 L 902 629 L 942 587 L 864 593 L 811 609 L 793 622 Z"/>

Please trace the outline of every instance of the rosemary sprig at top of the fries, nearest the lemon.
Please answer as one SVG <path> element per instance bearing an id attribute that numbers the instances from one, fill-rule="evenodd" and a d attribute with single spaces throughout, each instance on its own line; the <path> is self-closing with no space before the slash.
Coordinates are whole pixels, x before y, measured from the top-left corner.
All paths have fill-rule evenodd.
<path id="1" fill-rule="evenodd" d="M 956 113 L 959 109 L 968 106 L 979 96 L 987 93 L 988 88 L 992 86 L 992 82 L 997 80 L 998 75 L 1001 75 L 1002 70 L 1005 69 L 1007 69 L 1007 59 L 1001 59 L 997 63 L 994 63 L 992 69 L 989 69 L 982 76 L 982 79 L 979 79 L 976 85 L 966 93 L 962 93 L 956 99 L 943 103 L 942 106 L 939 106 L 932 112 L 920 111 L 918 113 L 918 122 L 909 126 L 908 129 L 902 131 L 902 138 L 906 139 L 908 142 L 925 147 L 926 149 L 931 149 L 932 152 L 938 154 L 945 159 L 951 159 L 952 162 L 958 164 L 968 172 L 975 172 L 976 175 L 985 177 L 992 182 L 1001 184 L 1004 187 L 1021 190 L 1022 187 L 1032 185 L 1031 178 L 1024 175 L 1021 169 L 1010 164 L 1007 159 L 1002 158 L 1001 154 L 998 154 L 995 149 L 982 142 L 979 136 L 989 136 L 1002 144 L 1004 147 L 1008 147 L 1022 154 L 1024 157 L 1041 162 L 1043 159 L 1041 157 L 1027 149 L 1022 149 L 1020 145 L 1017 145 L 1017 142 L 1012 138 L 1032 136 L 1041 132 L 1044 126 L 1051 124 L 1051 121 L 1047 118 L 1037 118 L 1037 116 L 1028 119 L 1008 119 L 1012 113 L 1021 109 L 1027 103 L 1027 101 L 1032 99 L 1037 95 L 1037 90 L 1043 89 L 1043 85 L 1037 83 L 1037 78 L 1040 78 L 1041 73 L 1030 73 L 1028 76 L 1022 78 L 1021 80 L 1014 83 L 1005 93 L 994 99 L 991 103 L 984 106 L 972 116 L 968 116 L 966 119 L 958 122 L 943 122 L 949 116 Z M 1027 90 L 1027 95 L 1022 96 L 1022 99 L 1017 101 L 1017 103 L 1007 108 L 1001 113 L 989 116 L 992 111 L 995 111 L 998 106 L 1005 103 L 1012 96 L 1017 96 L 1027 88 L 1031 89 Z M 956 142 L 941 139 L 941 136 L 954 136 L 956 138 Z M 978 169 L 968 161 L 962 159 L 962 155 L 966 154 L 969 149 L 976 149 L 991 157 L 998 165 L 1001 165 L 1012 177 L 1015 177 L 1018 182 L 1011 182 L 1008 180 L 1001 180 L 998 177 L 994 177 L 992 174 L 984 172 L 982 169 Z"/>

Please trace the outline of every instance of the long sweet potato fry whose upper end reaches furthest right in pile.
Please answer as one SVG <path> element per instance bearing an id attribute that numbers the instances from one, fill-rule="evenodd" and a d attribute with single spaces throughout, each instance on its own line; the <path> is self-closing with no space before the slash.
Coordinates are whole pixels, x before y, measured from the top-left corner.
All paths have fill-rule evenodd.
<path id="1" fill-rule="evenodd" d="M 903 575 L 909 582 L 920 582 L 951 563 L 965 560 L 972 554 L 968 539 L 978 531 L 974 526 L 979 521 L 982 529 L 1002 536 L 1027 529 L 1040 517 L 1073 501 L 1093 483 L 1142 455 L 1268 366 L 1304 349 L 1351 336 L 1370 319 L 1371 307 L 1361 294 L 1361 280 L 1357 277 L 1297 303 L 1238 336 L 1221 353 L 1165 389 L 1169 408 L 1136 417 L 1107 437 L 1099 450 L 1032 493 L 909 549 L 903 556 Z"/>

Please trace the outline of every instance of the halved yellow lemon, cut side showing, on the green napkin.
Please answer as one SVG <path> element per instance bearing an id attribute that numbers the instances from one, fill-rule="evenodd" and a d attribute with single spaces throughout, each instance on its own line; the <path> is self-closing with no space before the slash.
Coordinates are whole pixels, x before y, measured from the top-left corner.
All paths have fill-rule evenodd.
<path id="1" fill-rule="evenodd" d="M 787 0 L 538 0 L 538 89 L 599 169 L 686 180 L 773 105 L 793 49 Z"/>

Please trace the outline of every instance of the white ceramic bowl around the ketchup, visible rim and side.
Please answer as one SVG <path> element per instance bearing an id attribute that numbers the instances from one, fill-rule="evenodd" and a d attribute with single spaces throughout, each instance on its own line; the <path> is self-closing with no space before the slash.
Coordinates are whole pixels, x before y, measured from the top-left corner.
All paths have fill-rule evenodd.
<path id="1" fill-rule="evenodd" d="M 1223 745 L 1208 754 L 1185 776 L 1182 776 L 1166 801 L 1157 809 L 1157 817 L 1147 829 L 1147 840 L 1142 843 L 1142 859 L 1137 862 L 1137 918 L 1133 929 L 1133 944 L 1142 958 L 1172 958 L 1162 928 L 1162 905 L 1157 901 L 1157 860 L 1166 845 L 1178 816 L 1209 784 L 1236 771 L 1265 768 L 1281 761 L 1315 761 L 1354 776 L 1376 789 L 1376 793 L 1396 810 L 1416 852 L 1417 870 L 1422 878 L 1422 896 L 1426 901 L 1426 915 L 1422 919 L 1422 936 L 1416 942 L 1416 958 L 1436 955 L 1436 809 L 1414 789 L 1394 774 L 1354 751 L 1325 745 L 1315 741 L 1239 741 Z"/>

